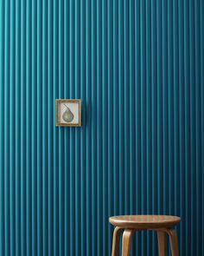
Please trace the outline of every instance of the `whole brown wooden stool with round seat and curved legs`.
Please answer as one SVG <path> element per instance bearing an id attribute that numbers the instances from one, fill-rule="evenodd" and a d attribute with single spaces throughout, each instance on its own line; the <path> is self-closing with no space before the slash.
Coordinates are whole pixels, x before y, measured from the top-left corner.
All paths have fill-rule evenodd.
<path id="1" fill-rule="evenodd" d="M 173 256 L 179 255 L 178 239 L 174 226 L 181 219 L 166 215 L 124 215 L 110 217 L 109 221 L 115 227 L 112 240 L 112 256 L 118 256 L 120 234 L 123 233 L 122 255 L 129 256 L 131 252 L 131 237 L 133 233 L 141 230 L 155 230 L 157 232 L 159 255 L 165 256 L 166 233 L 169 235 L 171 252 Z"/>

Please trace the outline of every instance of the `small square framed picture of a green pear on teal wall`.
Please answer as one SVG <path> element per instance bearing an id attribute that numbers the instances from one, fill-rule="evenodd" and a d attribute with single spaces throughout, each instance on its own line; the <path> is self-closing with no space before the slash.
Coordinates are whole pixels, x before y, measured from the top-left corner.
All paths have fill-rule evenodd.
<path id="1" fill-rule="evenodd" d="M 56 126 L 81 126 L 81 100 L 55 100 Z"/>

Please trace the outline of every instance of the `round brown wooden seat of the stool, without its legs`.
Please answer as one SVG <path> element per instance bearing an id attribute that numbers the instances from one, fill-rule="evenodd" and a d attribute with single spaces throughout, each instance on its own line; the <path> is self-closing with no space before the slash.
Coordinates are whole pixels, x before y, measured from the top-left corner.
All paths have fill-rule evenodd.
<path id="1" fill-rule="evenodd" d="M 170 215 L 122 215 L 109 218 L 113 226 L 135 229 L 152 229 L 172 227 L 181 221 L 181 218 Z"/>

